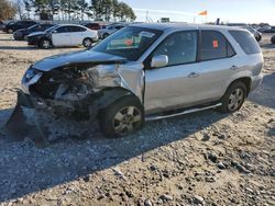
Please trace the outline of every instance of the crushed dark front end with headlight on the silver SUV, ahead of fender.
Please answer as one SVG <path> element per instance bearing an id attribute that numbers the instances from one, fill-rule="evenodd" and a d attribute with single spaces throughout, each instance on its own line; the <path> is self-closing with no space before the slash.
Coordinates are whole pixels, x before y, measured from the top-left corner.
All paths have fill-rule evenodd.
<path id="1" fill-rule="evenodd" d="M 40 71 L 32 66 L 22 79 L 18 102 L 30 108 L 48 108 L 58 115 L 87 116 L 89 106 L 100 95 L 87 72 L 77 67 Z"/>

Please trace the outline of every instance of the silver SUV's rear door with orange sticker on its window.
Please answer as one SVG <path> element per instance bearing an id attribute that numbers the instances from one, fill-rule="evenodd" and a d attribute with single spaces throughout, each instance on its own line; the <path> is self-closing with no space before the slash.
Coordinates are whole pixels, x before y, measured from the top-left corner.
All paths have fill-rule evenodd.
<path id="1" fill-rule="evenodd" d="M 232 73 L 240 67 L 240 60 L 226 36 L 219 31 L 201 30 L 199 49 L 200 82 L 196 93 L 198 102 L 220 99 Z"/>

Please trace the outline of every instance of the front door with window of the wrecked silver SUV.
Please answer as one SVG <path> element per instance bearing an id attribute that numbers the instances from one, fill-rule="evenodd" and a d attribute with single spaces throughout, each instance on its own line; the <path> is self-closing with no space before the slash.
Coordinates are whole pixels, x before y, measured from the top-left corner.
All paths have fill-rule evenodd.
<path id="1" fill-rule="evenodd" d="M 198 31 L 184 31 L 169 35 L 151 55 L 166 55 L 168 65 L 145 71 L 146 112 L 160 112 L 197 100 L 199 87 L 197 64 Z"/>

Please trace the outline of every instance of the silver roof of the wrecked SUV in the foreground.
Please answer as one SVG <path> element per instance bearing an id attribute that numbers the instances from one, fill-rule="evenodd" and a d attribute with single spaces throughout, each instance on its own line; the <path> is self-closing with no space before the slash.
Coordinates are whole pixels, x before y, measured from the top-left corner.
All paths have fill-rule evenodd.
<path id="1" fill-rule="evenodd" d="M 208 24 L 189 24 L 189 23 L 139 23 L 131 24 L 130 26 L 161 30 L 161 31 L 170 31 L 170 30 L 217 30 L 217 31 L 228 31 L 228 30 L 240 30 L 243 28 L 237 26 L 224 26 L 224 25 L 208 25 Z"/>

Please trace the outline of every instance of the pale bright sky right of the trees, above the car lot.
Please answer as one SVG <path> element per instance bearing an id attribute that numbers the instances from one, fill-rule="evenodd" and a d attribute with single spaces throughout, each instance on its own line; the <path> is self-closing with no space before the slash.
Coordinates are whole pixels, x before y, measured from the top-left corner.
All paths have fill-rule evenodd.
<path id="1" fill-rule="evenodd" d="M 157 21 L 161 18 L 170 18 L 170 21 L 194 22 L 206 21 L 198 16 L 200 11 L 208 10 L 208 21 L 230 23 L 261 23 L 275 25 L 275 0 L 123 0 L 130 4 L 138 15 L 136 21 L 148 18 Z"/>

